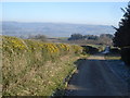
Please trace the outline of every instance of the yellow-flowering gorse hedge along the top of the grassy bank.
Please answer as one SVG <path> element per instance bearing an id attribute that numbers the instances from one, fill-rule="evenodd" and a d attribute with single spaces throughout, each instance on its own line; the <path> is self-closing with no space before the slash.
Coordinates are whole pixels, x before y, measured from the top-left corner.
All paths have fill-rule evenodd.
<path id="1" fill-rule="evenodd" d="M 67 45 L 67 44 L 47 44 L 42 41 L 29 40 L 29 39 L 21 39 L 16 37 L 8 37 L 3 36 L 2 50 L 3 54 L 8 53 L 12 54 L 23 54 L 23 53 L 31 53 L 42 56 L 44 61 L 56 59 L 60 56 L 64 54 L 80 54 L 82 52 L 82 48 L 76 45 Z"/>

